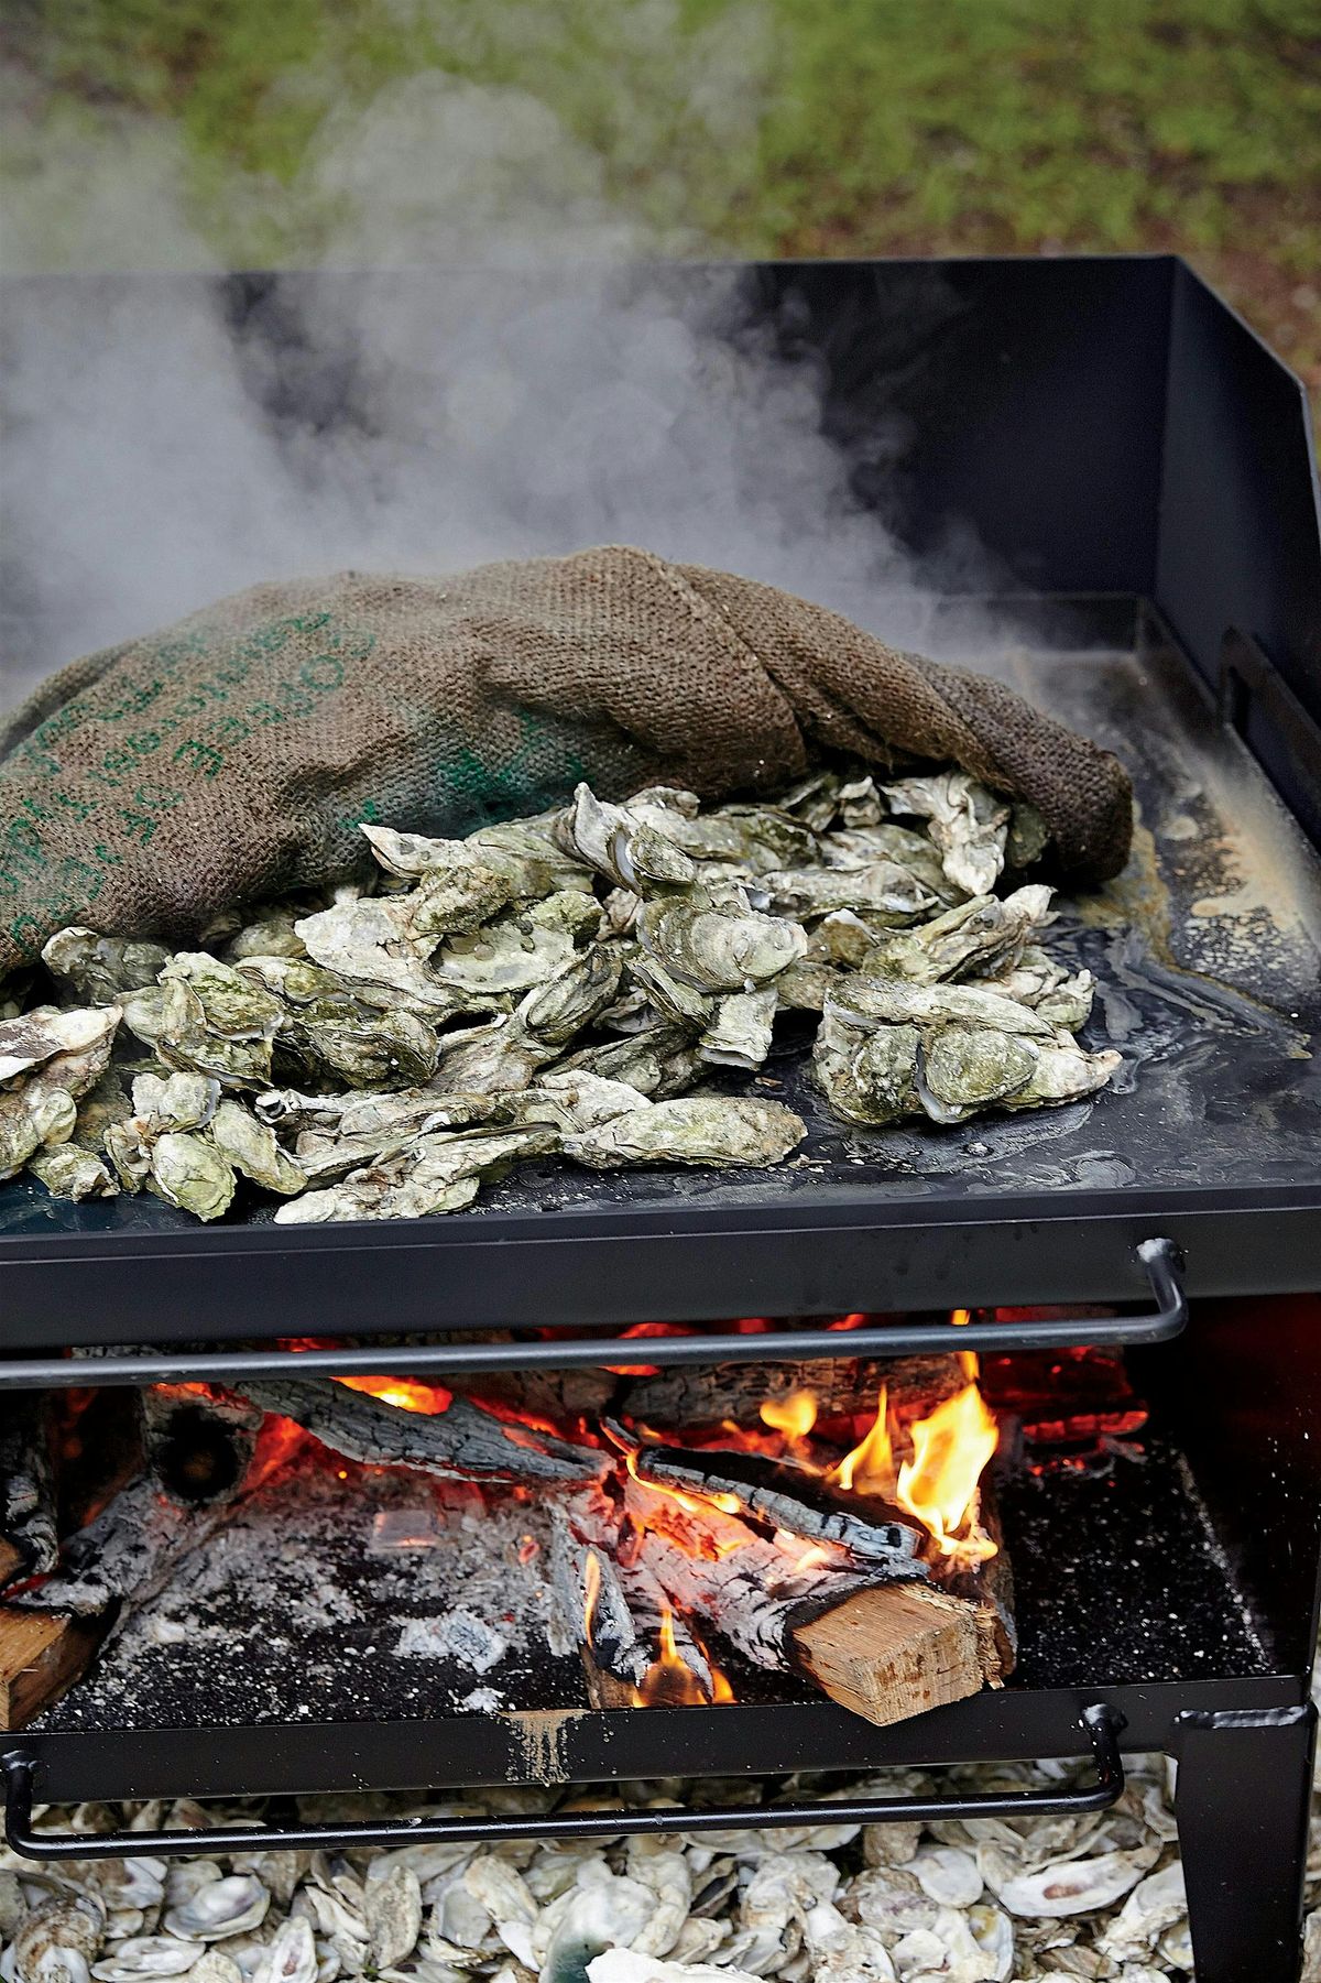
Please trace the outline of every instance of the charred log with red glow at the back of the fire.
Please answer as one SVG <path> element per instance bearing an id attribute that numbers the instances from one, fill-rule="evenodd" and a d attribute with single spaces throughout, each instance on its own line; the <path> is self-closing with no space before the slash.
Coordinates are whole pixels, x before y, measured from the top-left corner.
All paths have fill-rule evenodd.
<path id="1" fill-rule="evenodd" d="M 780 1418 L 768 1418 L 764 1404 L 774 1412 L 787 1398 L 811 1394 L 813 1422 L 823 1426 L 875 1412 L 883 1384 L 891 1410 L 902 1414 L 930 1412 L 966 1382 L 956 1356 L 803 1358 L 764 1362 L 756 1370 L 748 1364 L 704 1364 L 635 1378 L 621 1392 L 617 1410 L 635 1424 L 704 1434 L 716 1426 L 778 1426 Z"/>

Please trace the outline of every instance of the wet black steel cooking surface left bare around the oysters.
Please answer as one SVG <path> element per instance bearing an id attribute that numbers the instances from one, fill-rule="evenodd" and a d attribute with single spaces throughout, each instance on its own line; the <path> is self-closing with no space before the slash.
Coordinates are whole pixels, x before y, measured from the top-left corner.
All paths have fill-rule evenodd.
<path id="1" fill-rule="evenodd" d="M 851 599 L 885 633 L 885 605 Z M 1002 625 L 1021 607 L 1004 607 Z M 1081 615 L 1081 609 L 1079 609 Z M 1079 629 L 1083 621 L 1079 617 Z M 1004 633 L 980 652 L 1037 704 L 1119 752 L 1135 777 L 1139 831 L 1127 873 L 1089 898 L 1063 896 L 1051 946 L 1099 980 L 1089 1047 L 1125 1067 L 1097 1101 L 1018 1116 L 845 1128 L 809 1079 L 811 1015 L 781 1021 L 758 1077 L 714 1077 L 770 1095 L 805 1118 L 787 1166 L 742 1176 L 702 1170 L 587 1174 L 528 1164 L 448 1227 L 508 1214 L 573 1214 L 700 1204 L 791 1212 L 809 1198 L 883 1184 L 887 1204 L 1014 1190 L 1142 1190 L 1321 1184 L 1321 861 L 1263 773 L 1214 720 L 1184 658 L 1150 625 L 1127 646 L 1039 648 Z M 942 652 L 976 660 L 958 641 Z M 270 1208 L 246 1214 L 270 1222 Z M 196 1229 L 161 1200 L 69 1206 L 30 1182 L 0 1188 L 0 1233 L 159 1233 Z"/>

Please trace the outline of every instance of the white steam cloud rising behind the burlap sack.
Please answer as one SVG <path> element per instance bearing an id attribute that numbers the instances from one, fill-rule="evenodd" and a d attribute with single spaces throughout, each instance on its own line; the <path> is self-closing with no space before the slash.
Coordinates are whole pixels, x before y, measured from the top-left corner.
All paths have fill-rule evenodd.
<path id="1" fill-rule="evenodd" d="M 706 54 L 718 147 L 748 103 L 734 52 L 724 75 Z M 83 161 L 79 254 L 194 274 L 89 280 L 63 311 L 20 284 L 8 303 L 0 702 L 258 579 L 597 541 L 845 611 L 883 589 L 885 631 L 920 637 L 918 573 L 853 500 L 813 369 L 740 329 L 732 276 L 639 278 L 639 260 L 698 244 L 621 210 L 599 157 L 532 95 L 426 73 L 327 117 L 307 167 L 333 214 L 317 260 L 377 274 L 292 278 L 242 319 L 196 274 L 214 254 L 179 169 L 157 127 L 117 167 Z M 73 175 L 65 153 L 54 184 L 36 176 L 20 252 Z M 873 436 L 873 464 L 902 440 Z"/>

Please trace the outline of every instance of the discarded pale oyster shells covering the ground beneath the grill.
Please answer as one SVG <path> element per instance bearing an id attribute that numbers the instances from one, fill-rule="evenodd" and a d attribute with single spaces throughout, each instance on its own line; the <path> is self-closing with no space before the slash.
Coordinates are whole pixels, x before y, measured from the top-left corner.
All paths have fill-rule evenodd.
<path id="1" fill-rule="evenodd" d="M 730 1828 L 571 1844 L 407 1844 L 347 1854 L 206 1852 L 192 1803 L 50 1810 L 87 1832 L 163 1822 L 196 1858 L 38 1868 L 0 1852 L 6 1983 L 1037 1983 L 1192 1975 L 1168 1769 L 1127 1759 L 1113 1810 L 1055 1818 Z M 1075 1775 L 1073 1765 L 1061 1767 Z M 1027 1765 L 968 1765 L 966 1791 L 1027 1789 Z M 891 1771 L 827 1795 L 948 1789 Z M 787 1799 L 809 1785 L 789 1783 Z M 621 1785 L 561 1808 L 756 1805 L 736 1783 Z M 317 1803 L 333 1808 L 317 1808 Z M 484 1791 L 446 1807 L 355 1797 L 303 1803 L 307 1822 L 524 1812 L 545 1793 Z M 1321 1826 L 1317 1838 L 1321 1842 Z M 1321 1914 L 1307 1983 L 1321 1977 Z"/>

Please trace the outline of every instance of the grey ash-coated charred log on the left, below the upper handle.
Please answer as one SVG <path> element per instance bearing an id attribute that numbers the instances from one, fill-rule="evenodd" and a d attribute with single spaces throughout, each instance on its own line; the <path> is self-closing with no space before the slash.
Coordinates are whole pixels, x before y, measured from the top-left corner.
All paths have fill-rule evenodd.
<path id="1" fill-rule="evenodd" d="M 347 1384 L 317 1378 L 264 1378 L 242 1396 L 262 1412 L 292 1418 L 321 1446 L 377 1467 L 415 1467 L 438 1479 L 587 1481 L 609 1471 L 595 1446 L 569 1446 L 528 1426 L 504 1424 L 468 1398 L 448 1410 L 405 1412 Z"/>

